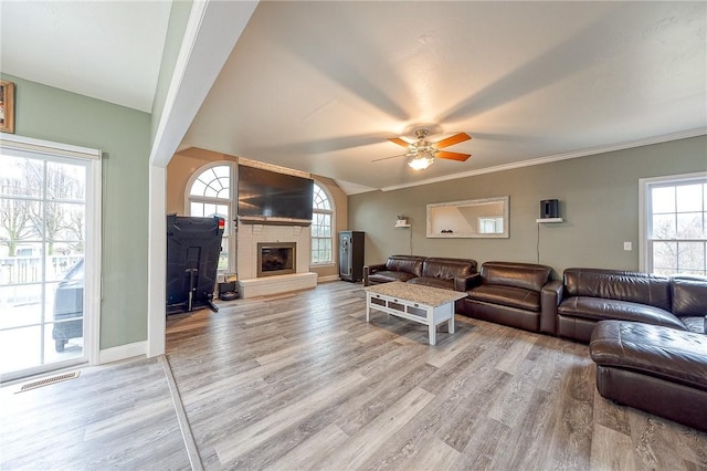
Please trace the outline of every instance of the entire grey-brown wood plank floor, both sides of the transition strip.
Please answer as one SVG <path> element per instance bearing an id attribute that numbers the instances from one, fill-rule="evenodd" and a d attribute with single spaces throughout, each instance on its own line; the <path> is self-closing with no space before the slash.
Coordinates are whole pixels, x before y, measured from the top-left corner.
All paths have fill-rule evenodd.
<path id="1" fill-rule="evenodd" d="M 2 388 L 0 468 L 189 469 L 193 438 L 207 470 L 707 470 L 707 433 L 599 396 L 585 345 L 457 315 L 430 346 L 360 284 L 171 317 L 167 346 Z"/>

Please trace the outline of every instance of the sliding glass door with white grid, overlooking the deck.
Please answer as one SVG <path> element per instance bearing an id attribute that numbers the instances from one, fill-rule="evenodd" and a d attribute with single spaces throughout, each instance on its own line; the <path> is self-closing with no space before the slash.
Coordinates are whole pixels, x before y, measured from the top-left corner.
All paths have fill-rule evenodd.
<path id="1" fill-rule="evenodd" d="M 96 228 L 87 199 L 89 160 L 2 149 L 0 167 L 0 375 L 6 380 L 87 359 L 94 303 L 84 287 L 95 257 L 86 234 Z"/>

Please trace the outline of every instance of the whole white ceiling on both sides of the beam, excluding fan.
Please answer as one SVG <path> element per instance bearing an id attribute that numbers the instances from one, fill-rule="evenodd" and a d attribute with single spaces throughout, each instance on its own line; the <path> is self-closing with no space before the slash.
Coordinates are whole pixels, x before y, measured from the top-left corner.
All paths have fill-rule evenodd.
<path id="1" fill-rule="evenodd" d="M 3 72 L 150 109 L 168 2 L 1 8 Z M 372 163 L 421 124 L 472 158 Z M 180 147 L 357 192 L 706 129 L 706 2 L 264 1 Z"/>

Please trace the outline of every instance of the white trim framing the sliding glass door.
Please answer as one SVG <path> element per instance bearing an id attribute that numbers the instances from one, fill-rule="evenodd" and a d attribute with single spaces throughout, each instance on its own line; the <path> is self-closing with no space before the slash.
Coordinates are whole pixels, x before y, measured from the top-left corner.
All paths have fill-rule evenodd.
<path id="1" fill-rule="evenodd" d="M 86 253 L 91 253 L 92 263 L 85 265 L 84 272 L 84 300 L 92 300 L 89 316 L 84 316 L 84 350 L 87 353 L 88 364 L 98 365 L 101 360 L 101 297 L 102 273 L 101 264 L 103 222 L 102 222 L 102 188 L 103 151 L 89 147 L 73 146 L 70 144 L 54 143 L 51 140 L 35 139 L 19 135 L 0 135 L 0 149 L 9 149 L 12 155 L 43 154 L 48 156 L 72 157 L 88 160 L 87 172 L 92 185 L 86 186 L 86 211 L 92 218 L 91 228 L 86 232 Z M 93 230 L 91 230 L 93 228 Z M 89 333 L 89 335 L 85 335 Z M 52 369 L 61 364 L 52 364 Z"/>

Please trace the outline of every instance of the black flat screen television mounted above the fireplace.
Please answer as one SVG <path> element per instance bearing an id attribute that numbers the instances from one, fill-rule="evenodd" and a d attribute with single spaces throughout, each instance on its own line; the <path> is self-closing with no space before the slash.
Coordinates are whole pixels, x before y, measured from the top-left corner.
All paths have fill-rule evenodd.
<path id="1" fill-rule="evenodd" d="M 239 216 L 312 221 L 314 180 L 239 165 Z"/>

